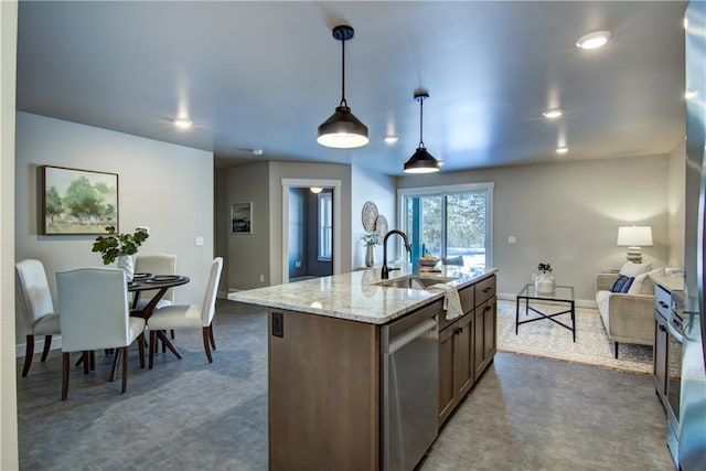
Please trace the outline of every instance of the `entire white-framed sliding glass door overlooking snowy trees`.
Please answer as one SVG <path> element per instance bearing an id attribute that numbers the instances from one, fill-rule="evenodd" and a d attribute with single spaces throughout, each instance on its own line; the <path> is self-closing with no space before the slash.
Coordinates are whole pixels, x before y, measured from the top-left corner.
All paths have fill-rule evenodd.
<path id="1" fill-rule="evenodd" d="M 431 254 L 492 266 L 492 183 L 404 189 L 398 196 L 413 259 Z"/>

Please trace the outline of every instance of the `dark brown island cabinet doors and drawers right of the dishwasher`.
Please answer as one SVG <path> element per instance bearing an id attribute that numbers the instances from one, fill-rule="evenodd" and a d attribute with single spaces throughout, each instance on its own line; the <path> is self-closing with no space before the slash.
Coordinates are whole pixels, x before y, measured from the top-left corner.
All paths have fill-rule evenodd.
<path id="1" fill-rule="evenodd" d="M 459 290 L 464 315 L 439 321 L 439 427 L 495 354 L 495 276 Z"/>

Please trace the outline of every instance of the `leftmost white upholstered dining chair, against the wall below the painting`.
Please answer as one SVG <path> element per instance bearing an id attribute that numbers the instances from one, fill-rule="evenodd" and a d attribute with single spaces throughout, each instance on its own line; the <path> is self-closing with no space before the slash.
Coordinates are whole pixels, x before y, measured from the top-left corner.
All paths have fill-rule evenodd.
<path id="1" fill-rule="evenodd" d="M 20 300 L 23 303 L 26 324 L 26 349 L 22 376 L 26 376 L 34 356 L 34 335 L 44 335 L 42 362 L 46 360 L 52 346 L 52 335 L 61 334 L 58 314 L 54 312 L 52 293 L 46 281 L 44 264 L 40 260 L 26 259 L 14 264 L 18 274 Z"/>

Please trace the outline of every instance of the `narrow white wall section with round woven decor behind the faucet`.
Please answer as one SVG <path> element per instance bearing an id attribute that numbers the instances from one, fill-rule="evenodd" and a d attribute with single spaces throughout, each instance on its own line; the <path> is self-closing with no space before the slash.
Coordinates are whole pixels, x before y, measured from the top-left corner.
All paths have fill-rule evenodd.
<path id="1" fill-rule="evenodd" d="M 397 228 L 397 214 L 395 205 L 395 178 L 382 173 L 372 172 L 357 165 L 351 168 L 351 227 L 353 268 L 365 266 L 365 245 L 361 236 L 365 234 L 363 228 L 363 205 L 372 201 L 377 206 L 379 214 L 387 220 L 388 228 Z M 382 243 L 382 240 L 381 240 Z M 393 250 L 394 244 L 389 244 Z M 375 247 L 375 264 L 383 263 L 383 247 Z"/>

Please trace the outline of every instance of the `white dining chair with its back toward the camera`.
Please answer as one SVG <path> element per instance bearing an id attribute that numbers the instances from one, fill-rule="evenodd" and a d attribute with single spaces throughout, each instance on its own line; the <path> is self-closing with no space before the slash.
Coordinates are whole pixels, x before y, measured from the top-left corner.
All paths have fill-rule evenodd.
<path id="1" fill-rule="evenodd" d="M 128 346 L 137 339 L 145 367 L 145 319 L 130 317 L 125 272 L 115 268 L 79 268 L 56 274 L 62 329 L 62 400 L 68 395 L 71 352 L 115 349 L 109 381 L 122 360 L 122 393 L 128 384 Z M 86 355 L 84 355 L 85 361 Z"/>

